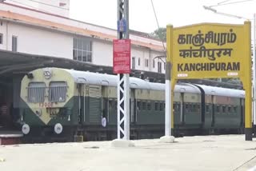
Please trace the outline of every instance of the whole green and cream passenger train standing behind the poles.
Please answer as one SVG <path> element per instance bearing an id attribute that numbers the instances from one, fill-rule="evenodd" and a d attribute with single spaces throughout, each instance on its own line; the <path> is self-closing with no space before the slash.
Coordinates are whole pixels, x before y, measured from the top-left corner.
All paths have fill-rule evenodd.
<path id="1" fill-rule="evenodd" d="M 22 79 L 20 125 L 30 141 L 112 140 L 117 137 L 114 75 L 60 68 Z M 130 78 L 130 138 L 164 134 L 165 85 Z M 241 133 L 244 91 L 207 85 L 174 88 L 174 135 Z"/>

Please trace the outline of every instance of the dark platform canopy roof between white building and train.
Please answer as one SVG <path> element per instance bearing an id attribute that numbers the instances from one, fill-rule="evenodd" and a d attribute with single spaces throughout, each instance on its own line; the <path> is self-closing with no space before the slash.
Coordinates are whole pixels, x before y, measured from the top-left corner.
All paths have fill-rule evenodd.
<path id="1" fill-rule="evenodd" d="M 90 72 L 103 74 L 113 74 L 113 68 L 111 66 L 98 66 L 88 62 L 79 62 L 67 58 L 0 50 L 0 78 L 10 78 L 10 76 L 16 74 L 26 74 L 31 70 L 43 67 L 58 67 L 74 70 L 88 70 Z M 165 74 L 148 71 L 132 70 L 130 76 L 152 78 L 154 79 L 154 82 L 165 81 Z"/>

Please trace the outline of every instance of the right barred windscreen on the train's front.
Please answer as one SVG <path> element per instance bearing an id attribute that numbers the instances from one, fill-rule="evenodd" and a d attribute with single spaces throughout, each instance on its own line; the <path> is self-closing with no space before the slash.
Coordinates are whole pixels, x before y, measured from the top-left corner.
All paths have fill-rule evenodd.
<path id="1" fill-rule="evenodd" d="M 49 101 L 66 101 L 66 82 L 50 82 Z"/>

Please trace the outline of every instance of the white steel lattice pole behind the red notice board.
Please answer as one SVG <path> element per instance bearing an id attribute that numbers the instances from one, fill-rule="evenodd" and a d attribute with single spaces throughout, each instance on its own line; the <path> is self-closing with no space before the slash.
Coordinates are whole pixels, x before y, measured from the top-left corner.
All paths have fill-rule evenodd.
<path id="1" fill-rule="evenodd" d="M 129 1 L 118 0 L 118 39 L 129 38 Z M 130 140 L 129 74 L 118 74 L 118 139 Z"/>

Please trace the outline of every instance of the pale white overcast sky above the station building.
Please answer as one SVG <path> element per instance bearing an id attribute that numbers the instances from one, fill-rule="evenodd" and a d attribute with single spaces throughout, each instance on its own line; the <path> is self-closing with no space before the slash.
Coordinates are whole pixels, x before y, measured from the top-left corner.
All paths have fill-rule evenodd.
<path id="1" fill-rule="evenodd" d="M 160 27 L 174 27 L 202 22 L 242 24 L 245 19 L 228 17 L 205 10 L 212 6 L 217 12 L 253 19 L 256 0 L 152 0 Z M 246 2 L 241 2 L 246 1 Z M 117 0 L 70 0 L 70 18 L 117 29 Z M 215 6 L 223 2 L 222 6 Z M 235 3 L 239 2 L 239 3 Z M 223 5 L 225 3 L 233 3 Z M 130 30 L 152 33 L 158 29 L 151 0 L 129 0 Z M 252 21 L 253 23 L 253 21 Z"/>

